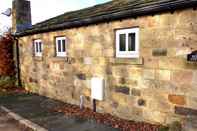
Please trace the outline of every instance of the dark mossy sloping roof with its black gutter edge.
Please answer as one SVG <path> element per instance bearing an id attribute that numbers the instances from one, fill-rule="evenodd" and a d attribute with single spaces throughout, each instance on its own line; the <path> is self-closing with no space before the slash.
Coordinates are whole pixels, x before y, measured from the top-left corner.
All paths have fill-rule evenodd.
<path id="1" fill-rule="evenodd" d="M 197 0 L 113 0 L 93 7 L 64 13 L 35 24 L 29 29 L 17 32 L 16 35 L 26 36 L 189 7 L 197 7 Z"/>

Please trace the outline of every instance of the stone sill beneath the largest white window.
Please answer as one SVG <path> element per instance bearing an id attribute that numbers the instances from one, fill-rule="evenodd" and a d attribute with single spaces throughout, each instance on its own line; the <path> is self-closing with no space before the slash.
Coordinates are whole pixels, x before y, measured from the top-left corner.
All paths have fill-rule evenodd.
<path id="1" fill-rule="evenodd" d="M 143 65 L 144 58 L 112 58 L 110 59 L 112 64 L 124 64 L 124 65 Z"/>

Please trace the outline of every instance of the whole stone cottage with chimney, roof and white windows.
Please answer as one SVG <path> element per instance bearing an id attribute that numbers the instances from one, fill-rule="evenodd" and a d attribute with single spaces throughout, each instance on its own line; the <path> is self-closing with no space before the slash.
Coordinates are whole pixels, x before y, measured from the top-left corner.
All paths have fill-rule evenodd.
<path id="1" fill-rule="evenodd" d="M 161 124 L 197 114 L 197 0 L 113 0 L 32 26 L 30 3 L 18 1 L 27 90 L 92 108 L 99 78 L 99 112 Z"/>

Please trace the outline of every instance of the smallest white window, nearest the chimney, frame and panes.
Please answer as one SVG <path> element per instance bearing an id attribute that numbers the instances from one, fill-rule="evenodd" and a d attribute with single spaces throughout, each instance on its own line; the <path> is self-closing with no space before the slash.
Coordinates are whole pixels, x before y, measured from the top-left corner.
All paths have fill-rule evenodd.
<path id="1" fill-rule="evenodd" d="M 40 39 L 34 40 L 33 45 L 34 45 L 35 56 L 42 56 L 42 50 L 43 50 L 42 40 L 40 40 Z"/>

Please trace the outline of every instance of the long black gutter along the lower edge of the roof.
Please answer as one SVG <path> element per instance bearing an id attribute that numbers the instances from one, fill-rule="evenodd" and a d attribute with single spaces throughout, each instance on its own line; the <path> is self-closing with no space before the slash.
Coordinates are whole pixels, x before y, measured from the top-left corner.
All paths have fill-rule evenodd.
<path id="1" fill-rule="evenodd" d="M 16 33 L 16 36 L 22 37 L 22 36 L 27 36 L 27 35 L 33 35 L 33 34 L 39 34 L 39 33 L 45 33 L 45 32 L 51 32 L 51 31 L 57 31 L 57 30 L 63 30 L 63 29 L 70 29 L 74 27 L 81 27 L 81 26 L 88 26 L 90 24 L 98 24 L 102 22 L 110 22 L 110 21 L 115 21 L 115 20 L 121 20 L 121 19 L 126 19 L 126 18 L 137 18 L 139 16 L 144 16 L 144 15 L 153 15 L 156 13 L 162 13 L 162 12 L 167 12 L 167 11 L 175 11 L 178 9 L 186 9 L 186 8 L 195 8 L 197 7 L 197 0 L 180 0 L 180 1 L 172 1 L 168 3 L 161 3 L 157 5 L 147 5 L 141 8 L 136 8 L 136 9 L 127 9 L 124 11 L 119 11 L 119 12 L 110 12 L 105 15 L 100 15 L 100 16 L 93 16 L 90 18 L 85 18 L 81 20 L 73 20 L 73 21 L 68 21 L 64 22 L 62 24 L 57 24 L 57 25 L 49 25 L 48 27 L 35 27 L 35 28 L 30 28 L 22 32 Z"/>

